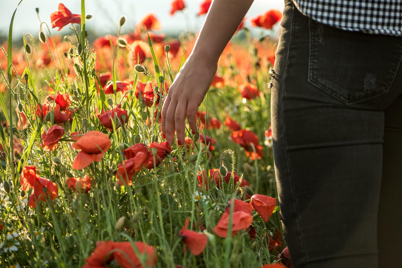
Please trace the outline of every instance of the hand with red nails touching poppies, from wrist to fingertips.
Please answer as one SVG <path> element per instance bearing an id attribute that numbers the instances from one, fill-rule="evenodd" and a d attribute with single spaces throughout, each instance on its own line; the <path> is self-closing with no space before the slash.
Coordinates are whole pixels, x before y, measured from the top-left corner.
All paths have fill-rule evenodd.
<path id="1" fill-rule="evenodd" d="M 174 131 L 178 145 L 184 142 L 186 117 L 193 134 L 198 131 L 196 113 L 216 69 L 216 63 L 190 55 L 178 72 L 162 107 L 162 133 L 168 146 L 173 144 Z"/>

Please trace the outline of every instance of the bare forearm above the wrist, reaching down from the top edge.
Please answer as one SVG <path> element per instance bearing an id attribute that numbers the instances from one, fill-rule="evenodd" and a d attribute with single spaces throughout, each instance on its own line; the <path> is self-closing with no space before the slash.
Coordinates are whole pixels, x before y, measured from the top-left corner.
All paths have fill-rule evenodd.
<path id="1" fill-rule="evenodd" d="M 216 65 L 253 0 L 213 0 L 191 57 Z"/>

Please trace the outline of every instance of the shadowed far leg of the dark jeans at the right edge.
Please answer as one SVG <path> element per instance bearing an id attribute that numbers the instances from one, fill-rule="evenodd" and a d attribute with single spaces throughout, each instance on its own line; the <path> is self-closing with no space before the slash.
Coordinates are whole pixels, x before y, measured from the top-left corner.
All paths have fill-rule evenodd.
<path id="1" fill-rule="evenodd" d="M 402 87 L 402 85 L 400 85 Z M 402 261 L 402 95 L 384 110 L 383 172 L 377 240 L 380 268 Z"/>

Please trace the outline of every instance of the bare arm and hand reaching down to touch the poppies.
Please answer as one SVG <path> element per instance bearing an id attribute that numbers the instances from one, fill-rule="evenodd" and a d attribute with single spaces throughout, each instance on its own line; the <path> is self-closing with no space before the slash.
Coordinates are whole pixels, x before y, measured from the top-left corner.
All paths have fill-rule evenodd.
<path id="1" fill-rule="evenodd" d="M 196 113 L 211 85 L 217 62 L 253 0 L 213 0 L 193 51 L 176 75 L 162 108 L 162 132 L 172 145 L 184 142 L 185 120 L 197 131 Z"/>

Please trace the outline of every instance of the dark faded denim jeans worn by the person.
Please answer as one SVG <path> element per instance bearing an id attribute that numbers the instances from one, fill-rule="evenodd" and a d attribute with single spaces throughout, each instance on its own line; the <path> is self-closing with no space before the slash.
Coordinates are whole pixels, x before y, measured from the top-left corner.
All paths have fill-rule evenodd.
<path id="1" fill-rule="evenodd" d="M 402 38 L 317 23 L 285 1 L 271 95 L 294 267 L 402 266 Z"/>

